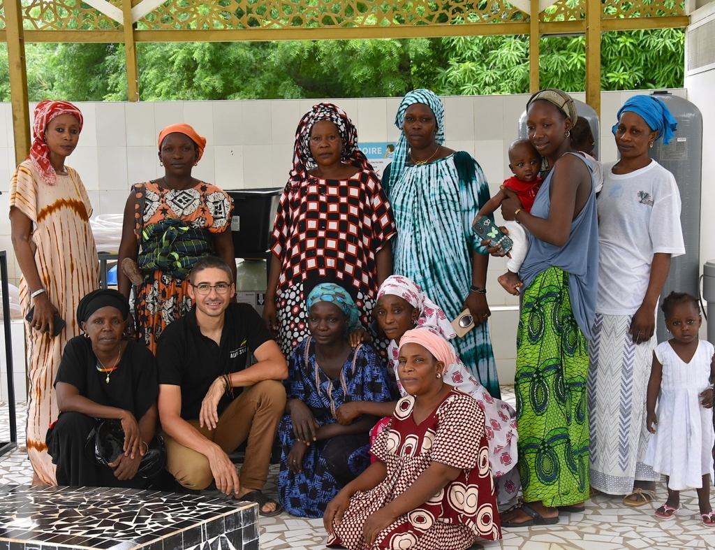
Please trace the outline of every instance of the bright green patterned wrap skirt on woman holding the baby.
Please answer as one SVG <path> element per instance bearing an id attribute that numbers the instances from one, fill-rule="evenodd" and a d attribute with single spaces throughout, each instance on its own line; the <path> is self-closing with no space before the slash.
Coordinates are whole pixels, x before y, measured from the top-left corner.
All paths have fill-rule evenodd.
<path id="1" fill-rule="evenodd" d="M 568 273 L 541 272 L 526 288 L 517 333 L 516 421 L 524 501 L 588 499 L 588 344 L 576 324 Z"/>

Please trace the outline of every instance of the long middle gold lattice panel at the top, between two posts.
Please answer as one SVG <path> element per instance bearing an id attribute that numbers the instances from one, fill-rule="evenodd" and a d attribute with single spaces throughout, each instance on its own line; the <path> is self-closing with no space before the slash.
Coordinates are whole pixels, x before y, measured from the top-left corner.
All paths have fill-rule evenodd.
<path id="1" fill-rule="evenodd" d="M 505 0 L 169 0 L 138 29 L 263 29 L 523 21 Z"/>

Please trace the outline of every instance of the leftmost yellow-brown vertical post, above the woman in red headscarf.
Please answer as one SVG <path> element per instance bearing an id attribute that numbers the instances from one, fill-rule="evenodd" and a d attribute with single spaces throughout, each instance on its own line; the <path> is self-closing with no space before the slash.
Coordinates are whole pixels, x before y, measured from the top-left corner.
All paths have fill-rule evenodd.
<path id="1" fill-rule="evenodd" d="M 27 70 L 25 42 L 22 33 L 20 0 L 5 0 L 7 58 L 10 70 L 12 130 L 15 141 L 15 162 L 20 164 L 30 152 L 30 112 L 27 105 Z"/>

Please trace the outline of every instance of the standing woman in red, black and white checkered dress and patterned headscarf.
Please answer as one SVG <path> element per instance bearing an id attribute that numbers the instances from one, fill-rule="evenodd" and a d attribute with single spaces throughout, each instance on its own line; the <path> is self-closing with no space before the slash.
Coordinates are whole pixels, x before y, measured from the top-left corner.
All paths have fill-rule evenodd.
<path id="1" fill-rule="evenodd" d="M 370 326 L 378 287 L 393 273 L 395 235 L 388 196 L 358 148 L 355 125 L 337 105 L 313 105 L 295 131 L 263 308 L 286 357 L 308 335 L 305 298 L 320 283 L 345 288 Z M 373 345 L 386 356 L 387 340 Z"/>

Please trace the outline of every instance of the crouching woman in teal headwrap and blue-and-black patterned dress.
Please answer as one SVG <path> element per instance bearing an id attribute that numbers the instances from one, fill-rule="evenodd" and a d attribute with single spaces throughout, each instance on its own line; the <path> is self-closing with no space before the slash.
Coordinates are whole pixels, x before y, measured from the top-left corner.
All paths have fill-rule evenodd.
<path id="1" fill-rule="evenodd" d="M 293 516 L 320 518 L 342 486 L 370 465 L 370 429 L 378 418 L 361 416 L 341 426 L 335 411 L 348 401 L 393 401 L 388 370 L 375 349 L 351 348 L 360 327 L 358 306 L 340 285 L 315 286 L 306 300 L 310 335 L 288 361 L 286 416 L 278 493 Z"/>

